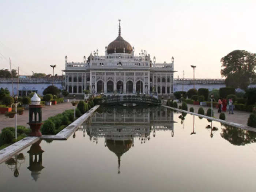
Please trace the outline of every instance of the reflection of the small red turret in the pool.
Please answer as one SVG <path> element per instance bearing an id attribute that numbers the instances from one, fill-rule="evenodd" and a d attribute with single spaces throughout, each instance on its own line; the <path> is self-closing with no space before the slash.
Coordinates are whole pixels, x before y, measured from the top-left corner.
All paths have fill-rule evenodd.
<path id="1" fill-rule="evenodd" d="M 37 181 L 41 170 L 44 169 L 44 166 L 42 166 L 42 153 L 44 153 L 44 150 L 41 149 L 40 144 L 41 140 L 31 145 L 30 150 L 27 151 L 29 153 L 29 169 L 31 171 L 31 176 L 34 181 Z"/>

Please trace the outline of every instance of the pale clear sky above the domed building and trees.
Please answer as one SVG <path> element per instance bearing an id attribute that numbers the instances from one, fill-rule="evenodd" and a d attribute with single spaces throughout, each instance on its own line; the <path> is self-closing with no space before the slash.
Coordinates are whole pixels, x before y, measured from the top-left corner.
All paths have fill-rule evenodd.
<path id="1" fill-rule="evenodd" d="M 221 57 L 233 50 L 256 53 L 256 1 L 230 0 L 0 0 L 0 69 L 20 67 L 61 74 L 68 61 L 105 46 L 118 35 L 135 54 L 147 50 L 157 62 L 171 62 L 174 78 L 221 78 Z"/>

